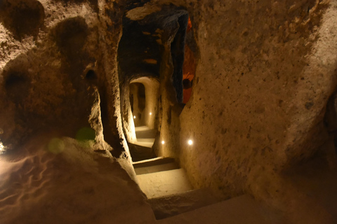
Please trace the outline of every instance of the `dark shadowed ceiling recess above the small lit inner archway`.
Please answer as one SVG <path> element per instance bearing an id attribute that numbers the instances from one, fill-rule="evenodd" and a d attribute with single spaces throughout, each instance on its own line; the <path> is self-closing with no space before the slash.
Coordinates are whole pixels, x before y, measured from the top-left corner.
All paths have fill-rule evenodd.
<path id="1" fill-rule="evenodd" d="M 129 1 L 126 13 L 133 8 L 142 7 L 146 2 Z M 164 52 L 162 43 L 174 38 L 171 43 L 174 66 L 172 78 L 178 101 L 181 102 L 187 21 L 187 10 L 173 5 L 161 6 L 159 12 L 147 15 L 142 20 L 130 20 L 124 15 L 123 35 L 119 41 L 117 56 L 121 82 L 127 83 L 140 76 L 159 78 L 161 56 Z"/>

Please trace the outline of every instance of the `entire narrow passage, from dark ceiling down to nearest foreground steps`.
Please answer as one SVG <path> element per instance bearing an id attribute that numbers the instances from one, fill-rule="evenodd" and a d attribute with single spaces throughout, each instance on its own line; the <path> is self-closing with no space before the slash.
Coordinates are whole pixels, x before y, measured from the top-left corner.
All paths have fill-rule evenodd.
<path id="1" fill-rule="evenodd" d="M 136 182 L 160 222 L 223 223 L 227 218 L 234 223 L 244 214 L 251 223 L 265 223 L 251 197 L 227 200 L 214 189 L 197 189 L 180 163 L 183 147 L 192 149 L 191 139 L 186 146 L 180 142 L 180 113 L 192 99 L 198 50 L 187 11 L 171 7 L 143 22 L 123 20 L 118 51 L 121 111 Z M 213 210 L 220 215 L 213 216 Z"/>

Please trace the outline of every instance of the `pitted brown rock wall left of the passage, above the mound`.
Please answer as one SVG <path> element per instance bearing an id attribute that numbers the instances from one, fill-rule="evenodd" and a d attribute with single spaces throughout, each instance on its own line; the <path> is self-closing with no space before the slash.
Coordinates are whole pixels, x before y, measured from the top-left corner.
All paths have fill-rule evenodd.
<path id="1" fill-rule="evenodd" d="M 105 132 L 115 156 L 126 150 L 117 73 L 122 10 L 117 1 L 1 1 L 4 146 L 15 148 L 38 132 L 75 137 L 92 127 L 100 138 Z M 97 102 L 102 119 L 93 118 Z"/>

